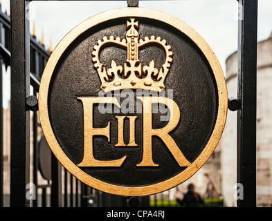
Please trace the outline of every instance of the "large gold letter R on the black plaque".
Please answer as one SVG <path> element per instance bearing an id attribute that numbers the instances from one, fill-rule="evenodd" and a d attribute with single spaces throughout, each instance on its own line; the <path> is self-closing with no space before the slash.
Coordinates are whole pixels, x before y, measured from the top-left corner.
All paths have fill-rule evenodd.
<path id="1" fill-rule="evenodd" d="M 179 123 L 179 106 L 172 99 L 167 97 L 138 97 L 143 102 L 143 159 L 137 166 L 158 166 L 154 164 L 152 158 L 152 136 L 160 137 L 165 143 L 170 153 L 172 153 L 179 166 L 189 166 L 190 162 L 184 157 L 181 150 L 169 135 Z M 152 128 L 152 104 L 165 104 L 170 110 L 170 120 L 163 128 Z"/>

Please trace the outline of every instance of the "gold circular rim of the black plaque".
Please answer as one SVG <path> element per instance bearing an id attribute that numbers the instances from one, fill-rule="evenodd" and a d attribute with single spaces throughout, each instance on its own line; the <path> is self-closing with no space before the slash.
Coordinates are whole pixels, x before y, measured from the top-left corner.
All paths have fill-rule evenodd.
<path id="1" fill-rule="evenodd" d="M 118 19 L 122 17 L 143 17 L 158 20 L 167 23 L 170 26 L 173 26 L 174 28 L 180 30 L 185 35 L 187 35 L 190 39 L 192 39 L 192 41 L 194 41 L 194 44 L 199 47 L 203 55 L 206 57 L 208 63 L 210 64 L 210 67 L 212 68 L 212 73 L 215 76 L 218 90 L 218 110 L 215 127 L 212 131 L 210 139 L 208 140 L 208 143 L 206 144 L 205 148 L 203 148 L 201 154 L 197 157 L 196 160 L 194 160 L 194 162 L 190 164 L 190 166 L 188 166 L 178 175 L 175 175 L 168 180 L 146 186 L 118 186 L 114 184 L 109 184 L 107 182 L 102 182 L 101 180 L 91 177 L 91 175 L 82 171 L 82 169 L 76 166 L 69 159 L 69 157 L 67 157 L 67 155 L 62 150 L 60 144 L 57 142 L 57 139 L 51 127 L 51 122 L 48 114 L 48 90 L 51 84 L 51 77 L 53 75 L 54 69 L 57 66 L 60 57 L 62 56 L 62 53 L 64 53 L 66 48 L 68 48 L 68 46 L 77 37 L 82 35 L 82 33 L 87 31 L 89 28 L 97 26 L 102 22 L 109 21 L 110 19 Z M 147 8 L 118 8 L 114 10 L 109 10 L 107 12 L 102 12 L 98 15 L 95 15 L 73 28 L 73 30 L 71 30 L 71 32 L 69 32 L 62 39 L 62 41 L 60 41 L 60 43 L 56 46 L 55 50 L 53 50 L 51 57 L 48 59 L 48 62 L 44 69 L 44 73 L 42 75 L 39 86 L 39 118 L 42 125 L 42 130 L 44 132 L 44 136 L 46 137 L 46 141 L 48 142 L 48 145 L 51 147 L 51 150 L 53 151 L 55 156 L 57 157 L 57 160 L 59 160 L 60 163 L 75 177 L 77 177 L 85 184 L 93 187 L 94 189 L 98 189 L 99 191 L 103 191 L 106 193 L 124 196 L 143 196 L 160 193 L 181 184 L 189 177 L 194 175 L 194 173 L 196 173 L 201 168 L 201 166 L 206 163 L 212 152 L 215 150 L 220 140 L 221 134 L 224 130 L 227 109 L 228 93 L 226 88 L 226 80 L 219 61 L 210 46 L 208 46 L 206 41 L 196 31 L 188 26 L 188 24 L 177 19 L 176 17 L 173 17 L 172 15 L 168 15 L 164 12 Z"/>

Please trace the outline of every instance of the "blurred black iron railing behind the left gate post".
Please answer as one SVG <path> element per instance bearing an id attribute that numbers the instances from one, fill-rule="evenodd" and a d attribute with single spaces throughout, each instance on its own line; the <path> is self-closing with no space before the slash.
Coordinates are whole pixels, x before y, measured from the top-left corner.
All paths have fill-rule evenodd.
<path id="1" fill-rule="evenodd" d="M 1 8 L 1 3 L 0 3 Z M 10 45 L 10 17 L 6 12 L 0 10 L 0 64 L 6 67 L 10 66 L 11 45 Z M 38 97 L 39 81 L 42 77 L 46 62 L 51 55 L 51 51 L 46 50 L 45 46 L 40 44 L 35 36 L 30 36 L 30 86 L 32 86 L 32 95 Z M 2 68 L 0 68 L 0 79 L 2 79 Z M 12 76 L 11 76 L 12 80 Z M 3 82 L 3 84 L 10 84 Z M 3 88 L 0 84 L 0 102 L 3 102 Z M 42 139 L 42 130 L 39 124 L 37 106 L 33 106 L 30 114 L 30 160 L 26 161 L 26 166 L 30 168 L 30 183 L 26 186 L 26 197 L 29 197 L 29 206 L 127 206 L 127 198 L 117 195 L 102 193 L 96 189 L 92 189 L 77 180 L 71 173 L 66 171 L 63 166 L 51 155 L 51 177 L 43 177 L 41 173 L 39 142 Z M 0 207 L 10 206 L 10 193 L 4 194 L 7 186 L 6 182 L 10 182 L 10 173 L 3 179 L 3 150 L 10 149 L 9 146 L 3 146 L 3 107 L 0 108 Z M 10 122 L 8 122 L 10 124 Z M 12 154 L 12 153 L 10 153 Z M 10 157 L 7 157 L 6 163 L 10 166 Z M 16 182 L 16 177 L 12 180 Z M 52 200 L 53 199 L 53 200 Z M 57 200 L 56 200 L 57 199 Z M 145 206 L 148 206 L 147 200 L 143 200 Z"/>

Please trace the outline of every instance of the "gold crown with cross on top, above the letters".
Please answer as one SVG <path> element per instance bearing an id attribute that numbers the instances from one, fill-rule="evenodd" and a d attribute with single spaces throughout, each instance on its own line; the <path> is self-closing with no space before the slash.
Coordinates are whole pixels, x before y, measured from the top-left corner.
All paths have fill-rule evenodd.
<path id="1" fill-rule="evenodd" d="M 115 39 L 113 36 L 109 37 L 109 39 L 103 37 L 103 40 L 98 40 L 98 44 L 93 47 L 93 64 L 100 77 L 100 88 L 105 92 L 122 89 L 145 89 L 160 92 L 165 88 L 165 77 L 172 63 L 171 46 L 166 44 L 165 39 L 161 40 L 161 37 L 151 36 L 139 39 L 137 29 L 138 21 L 131 18 L 130 21 L 127 21 L 125 39 L 121 40 L 120 37 Z M 165 50 L 165 62 L 160 70 L 155 68 L 154 60 L 150 61 L 149 66 L 143 66 L 143 68 L 142 64 L 140 64 L 138 49 L 151 44 L 161 46 Z M 113 45 L 127 49 L 127 60 L 124 68 L 117 66 L 116 62 L 112 60 L 111 68 L 106 70 L 99 59 L 100 50 Z"/>

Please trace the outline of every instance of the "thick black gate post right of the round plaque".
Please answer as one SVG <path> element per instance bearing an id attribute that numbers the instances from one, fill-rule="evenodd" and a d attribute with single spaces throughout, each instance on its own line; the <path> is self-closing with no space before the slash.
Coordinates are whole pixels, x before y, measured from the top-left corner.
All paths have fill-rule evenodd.
<path id="1" fill-rule="evenodd" d="M 257 0 L 239 0 L 237 206 L 256 206 Z"/>

